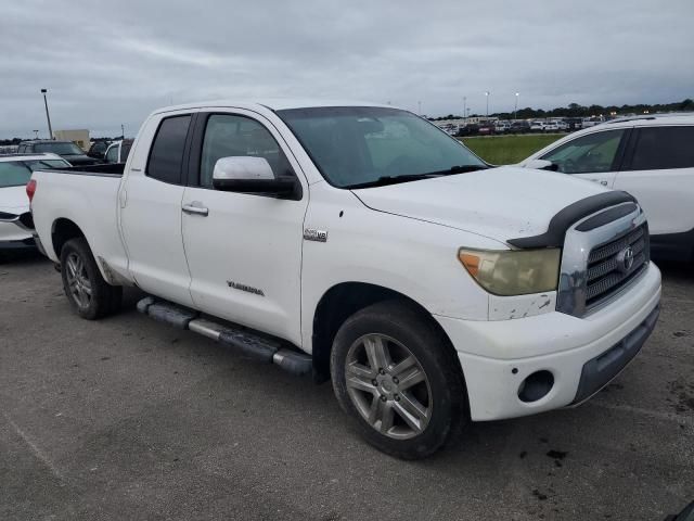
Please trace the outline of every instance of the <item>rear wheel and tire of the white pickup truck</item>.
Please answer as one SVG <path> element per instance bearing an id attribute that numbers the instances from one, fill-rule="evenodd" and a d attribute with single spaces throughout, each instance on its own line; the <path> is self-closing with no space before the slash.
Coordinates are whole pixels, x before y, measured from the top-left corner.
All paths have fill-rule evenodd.
<path id="1" fill-rule="evenodd" d="M 95 320 L 117 312 L 123 288 L 108 284 L 83 238 L 70 239 L 61 251 L 63 290 L 77 315 Z"/>

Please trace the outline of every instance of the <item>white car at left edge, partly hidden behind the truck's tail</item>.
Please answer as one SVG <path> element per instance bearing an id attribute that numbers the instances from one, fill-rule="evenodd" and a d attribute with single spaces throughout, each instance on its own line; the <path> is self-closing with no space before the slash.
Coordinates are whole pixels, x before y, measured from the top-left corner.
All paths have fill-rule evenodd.
<path id="1" fill-rule="evenodd" d="M 34 221 L 26 183 L 36 169 L 67 168 L 54 154 L 0 156 L 0 256 L 8 250 L 34 247 Z"/>

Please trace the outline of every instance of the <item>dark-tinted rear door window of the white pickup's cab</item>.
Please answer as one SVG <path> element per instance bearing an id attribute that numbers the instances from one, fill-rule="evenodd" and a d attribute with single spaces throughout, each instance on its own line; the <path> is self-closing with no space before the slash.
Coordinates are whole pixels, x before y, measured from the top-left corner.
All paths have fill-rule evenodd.
<path id="1" fill-rule="evenodd" d="M 146 176 L 159 181 L 181 185 L 185 137 L 191 116 L 174 116 L 162 120 L 154 137 Z"/>

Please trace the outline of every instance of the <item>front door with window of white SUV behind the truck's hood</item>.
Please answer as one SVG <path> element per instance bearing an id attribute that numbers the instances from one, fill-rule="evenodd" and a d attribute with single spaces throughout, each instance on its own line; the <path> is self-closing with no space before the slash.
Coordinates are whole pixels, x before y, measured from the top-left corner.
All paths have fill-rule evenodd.
<path id="1" fill-rule="evenodd" d="M 630 129 L 613 128 L 579 136 L 539 157 L 557 171 L 613 188 Z"/>

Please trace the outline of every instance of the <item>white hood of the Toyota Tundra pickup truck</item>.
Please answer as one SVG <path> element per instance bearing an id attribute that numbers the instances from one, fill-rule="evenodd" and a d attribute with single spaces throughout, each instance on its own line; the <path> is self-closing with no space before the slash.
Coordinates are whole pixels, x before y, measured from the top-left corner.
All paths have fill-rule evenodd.
<path id="1" fill-rule="evenodd" d="M 608 191 L 554 171 L 502 166 L 354 190 L 370 208 L 458 228 L 502 242 L 544 233 L 571 203 Z"/>

